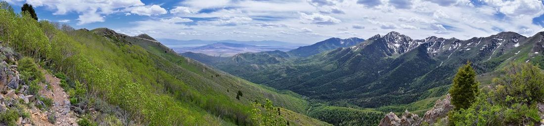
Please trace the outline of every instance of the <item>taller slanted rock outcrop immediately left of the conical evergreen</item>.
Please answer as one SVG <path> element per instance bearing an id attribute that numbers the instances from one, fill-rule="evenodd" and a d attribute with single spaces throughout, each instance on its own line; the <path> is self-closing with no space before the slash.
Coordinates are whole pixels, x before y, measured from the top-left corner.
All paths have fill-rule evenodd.
<path id="1" fill-rule="evenodd" d="M 440 118 L 448 116 L 448 112 L 453 109 L 451 100 L 452 97 L 448 94 L 446 95 L 446 98 L 444 100 L 436 101 L 435 106 L 432 107 L 431 110 L 425 112 L 425 116 L 423 116 L 423 121 L 432 124 Z"/>

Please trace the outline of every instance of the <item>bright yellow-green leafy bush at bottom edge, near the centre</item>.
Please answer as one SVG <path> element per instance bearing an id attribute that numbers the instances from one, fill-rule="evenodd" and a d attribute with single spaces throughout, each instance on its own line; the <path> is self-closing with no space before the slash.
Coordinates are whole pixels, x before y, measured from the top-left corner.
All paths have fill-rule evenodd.
<path id="1" fill-rule="evenodd" d="M 251 121 L 255 125 L 287 125 L 285 118 L 280 115 L 280 111 L 276 111 L 270 100 L 267 99 L 264 104 L 254 102 L 251 106 Z"/>

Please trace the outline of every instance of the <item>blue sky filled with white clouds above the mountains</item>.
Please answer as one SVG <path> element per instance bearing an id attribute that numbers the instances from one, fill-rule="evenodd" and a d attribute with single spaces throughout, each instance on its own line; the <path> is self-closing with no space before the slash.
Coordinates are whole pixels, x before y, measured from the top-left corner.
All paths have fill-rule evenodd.
<path id="1" fill-rule="evenodd" d="M 544 31 L 540 0 L 7 0 L 76 29 L 110 28 L 154 38 L 311 44 L 391 31 L 415 39 L 469 39 Z"/>

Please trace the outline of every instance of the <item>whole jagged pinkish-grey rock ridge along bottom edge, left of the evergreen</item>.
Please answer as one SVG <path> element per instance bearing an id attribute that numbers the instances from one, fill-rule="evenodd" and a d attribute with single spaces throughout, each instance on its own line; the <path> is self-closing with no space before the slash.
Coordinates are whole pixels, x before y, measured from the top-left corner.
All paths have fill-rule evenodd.
<path id="1" fill-rule="evenodd" d="M 405 126 L 405 125 L 421 125 L 434 124 L 438 120 L 447 121 L 448 112 L 453 109 L 453 105 L 450 100 L 452 97 L 449 94 L 444 98 L 444 100 L 438 100 L 435 103 L 435 106 L 431 110 L 425 112 L 423 118 L 419 118 L 418 115 L 412 114 L 409 111 L 405 111 L 401 117 L 398 117 L 393 112 L 385 115 L 385 117 L 380 121 L 380 126 Z"/>

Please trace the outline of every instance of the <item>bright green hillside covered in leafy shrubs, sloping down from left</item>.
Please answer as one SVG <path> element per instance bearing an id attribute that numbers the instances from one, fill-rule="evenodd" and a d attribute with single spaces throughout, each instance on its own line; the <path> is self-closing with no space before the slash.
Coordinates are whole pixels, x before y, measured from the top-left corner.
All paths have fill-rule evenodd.
<path id="1" fill-rule="evenodd" d="M 308 103 L 294 93 L 279 93 L 216 71 L 177 55 L 152 38 L 105 28 L 74 30 L 2 8 L 2 46 L 81 83 L 67 88 L 86 92 L 69 94 L 72 104 L 85 106 L 81 115 L 87 115 L 91 124 L 110 121 L 99 120 L 109 115 L 125 125 L 252 125 L 256 120 L 251 117 L 261 114 L 251 112 L 255 109 L 251 103 L 269 99 L 276 107 L 293 110 L 286 110 L 283 115 L 290 117 L 282 116 L 287 121 L 279 124 L 326 125 L 296 114 L 306 110 Z M 119 107 L 125 116 L 107 110 L 91 114 L 88 110 L 97 107 L 99 100 Z"/>

